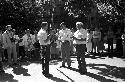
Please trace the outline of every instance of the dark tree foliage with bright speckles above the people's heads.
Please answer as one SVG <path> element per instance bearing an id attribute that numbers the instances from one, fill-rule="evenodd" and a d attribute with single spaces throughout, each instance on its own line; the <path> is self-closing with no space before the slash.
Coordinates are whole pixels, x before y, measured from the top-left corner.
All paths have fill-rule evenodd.
<path id="1" fill-rule="evenodd" d="M 0 25 L 11 24 L 13 28 L 40 29 L 42 21 L 59 24 L 65 21 L 75 27 L 76 21 L 89 25 L 89 17 L 97 18 L 99 27 L 124 25 L 124 0 L 0 0 Z M 59 2 L 60 1 L 60 2 Z M 54 9 L 54 10 L 53 10 Z M 121 26 L 123 27 L 123 26 Z"/>

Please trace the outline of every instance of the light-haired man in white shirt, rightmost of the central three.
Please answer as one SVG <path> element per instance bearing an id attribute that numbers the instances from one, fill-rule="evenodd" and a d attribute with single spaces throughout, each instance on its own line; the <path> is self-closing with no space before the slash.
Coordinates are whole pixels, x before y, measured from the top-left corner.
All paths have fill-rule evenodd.
<path id="1" fill-rule="evenodd" d="M 76 22 L 76 28 L 77 31 L 74 33 L 72 38 L 75 40 L 74 44 L 76 44 L 79 72 L 80 74 L 85 74 L 87 73 L 85 62 L 87 30 L 83 27 L 82 22 Z"/>

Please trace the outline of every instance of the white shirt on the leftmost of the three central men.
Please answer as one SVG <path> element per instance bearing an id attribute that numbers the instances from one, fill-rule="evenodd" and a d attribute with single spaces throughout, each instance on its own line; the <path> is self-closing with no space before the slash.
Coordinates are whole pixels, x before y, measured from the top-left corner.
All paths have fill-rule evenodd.
<path id="1" fill-rule="evenodd" d="M 38 40 L 39 40 L 39 43 L 40 45 L 48 45 L 50 44 L 50 40 L 48 42 L 45 42 L 44 40 L 47 39 L 47 32 L 43 29 L 41 29 L 38 34 L 37 34 L 37 37 L 38 37 Z"/>

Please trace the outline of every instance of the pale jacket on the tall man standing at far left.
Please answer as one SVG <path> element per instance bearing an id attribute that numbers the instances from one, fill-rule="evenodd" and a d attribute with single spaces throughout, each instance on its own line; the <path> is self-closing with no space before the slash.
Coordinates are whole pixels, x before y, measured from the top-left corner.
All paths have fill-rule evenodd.
<path id="1" fill-rule="evenodd" d="M 4 49 L 7 49 L 8 47 L 12 47 L 12 42 L 11 42 L 10 38 L 11 38 L 11 33 L 9 33 L 8 31 L 5 31 L 3 33 L 3 47 L 4 47 Z"/>

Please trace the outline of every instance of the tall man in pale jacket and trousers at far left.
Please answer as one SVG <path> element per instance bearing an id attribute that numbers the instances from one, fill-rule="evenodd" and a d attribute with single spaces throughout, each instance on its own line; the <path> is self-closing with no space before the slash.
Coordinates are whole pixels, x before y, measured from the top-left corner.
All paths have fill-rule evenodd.
<path id="1" fill-rule="evenodd" d="M 11 66 L 17 65 L 17 51 L 16 51 L 16 44 L 15 44 L 15 38 L 13 35 L 13 31 L 11 28 L 11 25 L 6 26 L 7 30 L 3 33 L 3 45 L 4 49 L 7 49 L 8 54 L 8 63 Z M 13 54 L 14 62 L 12 63 L 12 57 L 11 54 Z"/>

